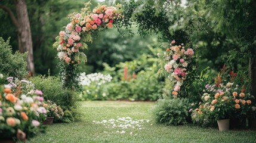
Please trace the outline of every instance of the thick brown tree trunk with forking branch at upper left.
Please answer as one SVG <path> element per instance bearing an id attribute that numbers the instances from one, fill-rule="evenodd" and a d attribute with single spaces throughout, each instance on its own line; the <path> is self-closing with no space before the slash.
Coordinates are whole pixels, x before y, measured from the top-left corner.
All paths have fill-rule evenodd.
<path id="1" fill-rule="evenodd" d="M 17 18 L 11 8 L 2 4 L 0 4 L 0 8 L 10 15 L 10 18 L 17 30 L 18 49 L 20 52 L 29 52 L 27 55 L 27 69 L 32 73 L 35 73 L 33 60 L 33 43 L 30 30 L 29 15 L 27 14 L 27 5 L 24 0 L 14 0 L 13 2 L 16 7 Z"/>

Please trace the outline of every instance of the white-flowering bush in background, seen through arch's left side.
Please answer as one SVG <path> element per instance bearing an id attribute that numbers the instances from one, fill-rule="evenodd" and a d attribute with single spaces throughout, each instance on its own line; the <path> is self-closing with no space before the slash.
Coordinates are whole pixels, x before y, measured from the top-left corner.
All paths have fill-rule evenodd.
<path id="1" fill-rule="evenodd" d="M 113 79 L 110 74 L 104 75 L 101 73 L 80 75 L 81 85 L 84 86 L 83 100 L 104 100 L 107 98 L 107 92 L 104 92 L 104 84 L 111 82 Z"/>

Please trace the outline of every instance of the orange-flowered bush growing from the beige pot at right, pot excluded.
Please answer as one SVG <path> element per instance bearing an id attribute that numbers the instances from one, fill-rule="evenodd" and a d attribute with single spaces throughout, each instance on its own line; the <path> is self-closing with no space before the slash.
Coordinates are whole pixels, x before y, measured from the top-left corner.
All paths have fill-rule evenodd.
<path id="1" fill-rule="evenodd" d="M 214 120 L 246 116 L 251 108 L 250 99 L 253 97 L 243 93 L 239 85 L 228 82 L 226 85 L 206 85 L 205 88 L 202 103 L 192 114 L 194 122 L 198 122 L 198 117 L 202 116 Z"/>

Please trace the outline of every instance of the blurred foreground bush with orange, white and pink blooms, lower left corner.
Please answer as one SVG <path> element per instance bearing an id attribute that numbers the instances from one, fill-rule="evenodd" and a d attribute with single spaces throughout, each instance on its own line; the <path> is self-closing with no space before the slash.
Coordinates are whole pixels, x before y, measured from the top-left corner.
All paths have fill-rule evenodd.
<path id="1" fill-rule="evenodd" d="M 0 138 L 24 141 L 43 131 L 38 120 L 46 114 L 42 107 L 44 98 L 36 94 L 12 94 L 8 85 L 0 90 Z"/>

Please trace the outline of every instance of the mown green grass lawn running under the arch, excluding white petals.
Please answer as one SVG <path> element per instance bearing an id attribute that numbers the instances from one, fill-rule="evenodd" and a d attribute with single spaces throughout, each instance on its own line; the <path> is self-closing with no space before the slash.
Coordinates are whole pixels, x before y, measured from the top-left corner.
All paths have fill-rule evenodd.
<path id="1" fill-rule="evenodd" d="M 80 122 L 58 123 L 47 126 L 42 133 L 27 142 L 256 142 L 255 130 L 228 130 L 220 132 L 212 128 L 193 125 L 156 125 L 150 116 L 153 102 L 85 101 Z M 93 121 L 131 117 L 149 119 L 139 128 L 106 128 Z M 121 131 L 123 131 L 121 133 Z M 119 131 L 119 132 L 117 132 Z"/>

